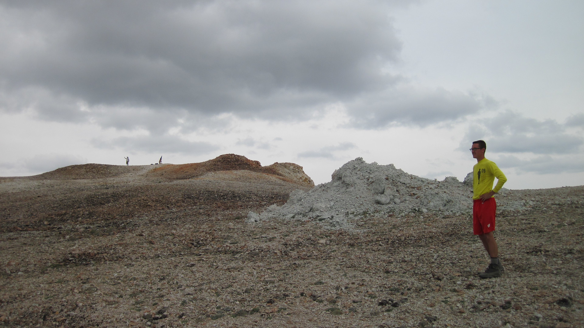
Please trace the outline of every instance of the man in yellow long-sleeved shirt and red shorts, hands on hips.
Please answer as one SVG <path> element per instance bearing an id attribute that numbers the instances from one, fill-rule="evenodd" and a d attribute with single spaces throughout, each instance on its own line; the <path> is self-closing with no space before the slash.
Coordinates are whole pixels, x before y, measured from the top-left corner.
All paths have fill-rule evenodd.
<path id="1" fill-rule="evenodd" d="M 477 159 L 477 163 L 472 167 L 472 230 L 481 239 L 486 252 L 491 256 L 491 264 L 478 276 L 481 278 L 500 277 L 505 268 L 499 260 L 499 247 L 493 235 L 497 208 L 493 196 L 503 187 L 507 178 L 495 162 L 485 158 L 486 143 L 484 141 L 472 142 L 470 151 L 472 158 Z M 495 177 L 497 184 L 493 188 Z"/>

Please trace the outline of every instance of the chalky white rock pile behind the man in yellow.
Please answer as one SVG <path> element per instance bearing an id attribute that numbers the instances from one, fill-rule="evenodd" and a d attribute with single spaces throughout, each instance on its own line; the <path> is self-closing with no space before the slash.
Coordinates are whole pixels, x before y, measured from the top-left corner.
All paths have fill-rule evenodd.
<path id="1" fill-rule="evenodd" d="M 504 196 L 506 189 L 500 191 Z M 272 205 L 261 215 L 251 212 L 248 222 L 283 217 L 318 219 L 332 227 L 350 228 L 354 218 L 364 215 L 424 215 L 429 211 L 442 214 L 470 212 L 472 174 L 464 182 L 456 177 L 442 181 L 425 179 L 396 169 L 394 165 L 367 163 L 356 158 L 332 174 L 331 182 L 309 191 L 294 191 L 281 207 Z M 506 203 L 500 208 L 523 208 L 523 203 Z"/>

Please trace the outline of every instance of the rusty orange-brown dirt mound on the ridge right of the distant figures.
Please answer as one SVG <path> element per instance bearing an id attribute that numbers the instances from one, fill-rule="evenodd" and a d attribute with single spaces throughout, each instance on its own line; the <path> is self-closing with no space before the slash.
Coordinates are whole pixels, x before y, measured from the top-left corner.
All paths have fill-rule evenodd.
<path id="1" fill-rule="evenodd" d="M 304 173 L 300 165 L 276 162 L 269 166 L 262 166 L 257 160 L 251 160 L 245 156 L 235 155 L 233 153 L 217 156 L 214 159 L 201 163 L 166 165 L 155 168 L 148 174 L 163 177 L 168 180 L 184 180 L 193 179 L 208 172 L 232 170 L 248 170 L 265 173 L 287 182 L 309 187 L 314 186 L 314 182 Z"/>

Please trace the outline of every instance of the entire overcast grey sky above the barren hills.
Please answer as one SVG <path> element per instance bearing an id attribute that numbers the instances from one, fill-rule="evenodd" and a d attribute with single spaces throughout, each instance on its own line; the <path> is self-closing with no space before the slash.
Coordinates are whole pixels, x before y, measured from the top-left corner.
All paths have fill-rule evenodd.
<path id="1" fill-rule="evenodd" d="M 0 0 L 0 176 L 347 161 L 584 184 L 584 2 Z"/>

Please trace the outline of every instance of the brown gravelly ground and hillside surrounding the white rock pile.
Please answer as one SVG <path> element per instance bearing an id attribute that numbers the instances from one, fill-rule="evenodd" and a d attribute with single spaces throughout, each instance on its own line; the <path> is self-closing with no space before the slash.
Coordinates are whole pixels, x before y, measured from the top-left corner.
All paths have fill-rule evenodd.
<path id="1" fill-rule="evenodd" d="M 311 180 L 233 156 L 0 178 L 0 326 L 584 326 L 584 186 L 507 191 L 480 280 L 469 214 L 248 224 Z"/>

